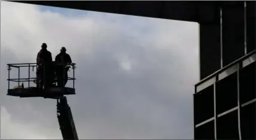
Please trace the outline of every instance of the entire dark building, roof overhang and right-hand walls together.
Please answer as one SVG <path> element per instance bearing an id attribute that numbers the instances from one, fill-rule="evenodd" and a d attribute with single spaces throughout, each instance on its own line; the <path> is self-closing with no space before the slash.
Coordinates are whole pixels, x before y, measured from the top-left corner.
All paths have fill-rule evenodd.
<path id="1" fill-rule="evenodd" d="M 17 2 L 199 23 L 194 138 L 255 139 L 255 1 Z"/>

